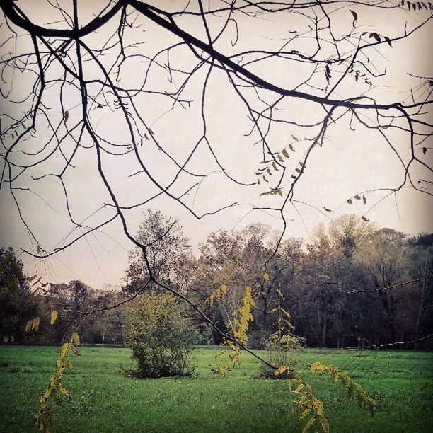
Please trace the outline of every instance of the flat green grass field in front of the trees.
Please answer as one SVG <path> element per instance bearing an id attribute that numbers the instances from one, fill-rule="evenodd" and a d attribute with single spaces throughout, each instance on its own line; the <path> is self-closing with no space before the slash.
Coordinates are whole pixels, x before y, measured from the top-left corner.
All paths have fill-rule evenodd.
<path id="1" fill-rule="evenodd" d="M 33 432 L 40 393 L 54 371 L 58 347 L 0 347 L 0 431 Z M 54 413 L 51 432 L 300 432 L 287 380 L 258 379 L 260 366 L 243 353 L 241 366 L 217 377 L 209 364 L 218 348 L 195 350 L 196 376 L 132 379 L 123 348 L 81 347 L 71 355 L 71 392 Z M 341 383 L 311 374 L 314 360 L 340 366 L 379 402 L 374 417 L 347 399 Z M 332 432 L 433 432 L 433 353 L 306 350 L 299 371 L 323 399 Z"/>

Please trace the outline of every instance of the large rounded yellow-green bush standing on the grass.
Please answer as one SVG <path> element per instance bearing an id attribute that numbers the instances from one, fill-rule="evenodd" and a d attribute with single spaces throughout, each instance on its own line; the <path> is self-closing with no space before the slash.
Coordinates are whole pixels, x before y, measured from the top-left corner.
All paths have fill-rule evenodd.
<path id="1" fill-rule="evenodd" d="M 197 331 L 187 306 L 171 294 L 148 293 L 127 310 L 127 341 L 136 376 L 156 378 L 192 373 L 190 354 Z"/>

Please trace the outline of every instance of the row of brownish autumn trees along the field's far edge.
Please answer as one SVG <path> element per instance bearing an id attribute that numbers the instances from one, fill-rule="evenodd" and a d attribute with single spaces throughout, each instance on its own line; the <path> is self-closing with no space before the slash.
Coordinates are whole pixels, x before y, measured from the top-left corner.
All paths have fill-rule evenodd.
<path id="1" fill-rule="evenodd" d="M 137 237 L 149 245 L 154 275 L 227 333 L 245 288 L 251 287 L 250 347 L 263 347 L 280 326 L 281 308 L 308 347 L 433 347 L 433 233 L 410 237 L 343 215 L 319 224 L 308 240 L 281 240 L 262 224 L 217 231 L 194 254 L 177 221 L 149 210 Z M 4 343 L 58 344 L 78 324 L 83 343 L 125 344 L 129 303 L 122 301 L 161 290 L 146 284 L 139 250 L 129 253 L 122 287 L 115 291 L 26 276 L 11 248 L 0 249 L 0 263 Z M 220 297 L 223 284 L 226 296 Z M 121 305 L 108 308 L 116 304 Z M 50 311 L 59 311 L 54 325 Z M 40 317 L 38 330 L 25 333 L 25 323 L 35 316 Z M 194 317 L 198 344 L 221 343 L 200 315 Z"/>

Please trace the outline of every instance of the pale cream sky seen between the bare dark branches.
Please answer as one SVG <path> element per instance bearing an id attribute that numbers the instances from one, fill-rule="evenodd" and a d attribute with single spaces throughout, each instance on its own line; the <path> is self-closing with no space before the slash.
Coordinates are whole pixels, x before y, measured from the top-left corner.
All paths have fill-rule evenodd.
<path id="1" fill-rule="evenodd" d="M 174 9 L 181 9 L 187 1 L 173 1 L 170 6 Z M 55 16 L 50 8 L 40 6 L 35 10 L 31 1 L 20 0 L 18 6 L 26 11 L 28 16 L 37 21 L 40 25 L 47 22 L 58 21 L 59 16 Z M 93 13 L 100 9 L 100 1 L 79 1 L 80 19 L 83 23 L 91 19 Z M 166 2 L 158 2 L 159 7 L 166 6 Z M 167 2 L 168 4 L 168 2 Z M 211 2 L 214 6 L 217 2 Z M 391 2 L 388 2 L 391 4 Z M 395 3 L 394 3 L 395 4 Z M 42 2 L 41 2 L 42 5 Z M 190 10 L 197 8 L 197 4 L 192 2 Z M 328 6 L 327 6 L 328 8 Z M 350 6 L 350 8 L 339 8 L 330 5 L 328 11 L 333 12 L 333 34 L 335 39 L 350 32 L 352 28 L 353 16 L 350 10 L 357 13 L 357 28 L 354 31 L 359 37 L 363 32 L 376 32 L 379 35 L 390 38 L 403 35 L 405 25 L 410 31 L 416 25 L 428 17 L 427 13 L 413 12 L 405 10 L 397 11 L 377 11 L 366 6 Z M 65 8 L 65 10 L 68 10 Z M 50 12 L 47 12 L 50 11 Z M 69 11 L 71 13 L 71 11 Z M 323 16 L 318 15 L 323 22 Z M 137 28 L 127 29 L 125 32 L 125 42 L 137 43 L 135 48 L 130 49 L 130 53 L 143 54 L 152 57 L 156 52 L 168 45 L 178 43 L 180 40 L 175 35 L 171 35 L 167 30 L 159 28 L 151 23 L 148 18 L 139 17 L 137 14 L 131 16 L 136 18 L 134 25 Z M 311 13 L 309 15 L 311 18 Z M 119 22 L 120 14 L 112 18 L 107 29 L 100 30 L 97 35 L 90 35 L 85 38 L 86 45 L 89 47 L 100 48 L 112 33 Z M 226 55 L 234 55 L 247 50 L 278 50 L 289 38 L 289 43 L 284 50 L 297 50 L 302 54 L 311 54 L 314 51 L 314 39 L 308 30 L 307 17 L 301 13 L 290 14 L 264 14 L 256 18 L 242 14 L 235 16 L 238 25 L 238 35 L 236 26 L 231 22 L 226 28 L 226 33 L 214 44 L 219 52 Z M 224 13 L 220 17 L 209 18 L 209 31 L 215 35 L 224 23 Z M 206 42 L 207 37 L 204 32 L 203 23 L 200 18 L 176 18 L 178 25 L 192 33 L 195 37 Z M 52 27 L 65 28 L 66 23 L 53 23 Z M 1 39 L 6 38 L 6 28 L 0 28 Z M 296 32 L 296 33 L 294 33 Z M 23 31 L 18 34 L 23 35 Z M 294 38 L 294 35 L 296 37 Z M 325 43 L 323 34 L 323 54 L 321 58 L 328 58 L 335 55 Z M 233 46 L 233 42 L 237 42 Z M 8 52 L 16 50 L 25 52 L 29 44 L 29 38 L 18 37 L 16 41 L 9 42 L 1 48 L 1 56 L 5 59 Z M 125 43 L 125 45 L 127 45 Z M 369 57 L 369 67 L 371 70 L 383 72 L 386 67 L 386 75 L 377 78 L 371 77 L 372 86 L 355 81 L 352 74 L 351 79 L 346 79 L 341 86 L 338 86 L 332 98 L 343 99 L 359 96 L 366 93 L 376 98 L 378 103 L 394 103 L 396 101 L 408 103 L 410 101 L 410 89 L 415 89 L 415 97 L 422 94 L 427 97 L 431 91 L 431 86 L 425 85 L 426 80 L 412 77 L 432 76 L 431 55 L 433 52 L 432 26 L 427 24 L 419 33 L 415 33 L 411 38 L 393 42 L 390 47 L 384 43 L 366 50 Z M 352 48 L 347 45 L 349 52 Z M 41 46 L 42 48 L 42 46 Z M 71 50 L 71 65 L 74 64 L 73 56 L 75 51 Z M 83 65 L 86 79 L 100 77 L 100 71 L 89 57 L 85 57 Z M 110 64 L 115 59 L 114 54 L 101 57 L 104 64 Z M 325 86 L 323 74 L 313 77 L 309 83 L 304 83 L 306 78 L 312 74 L 311 64 L 295 62 L 293 59 L 264 59 L 261 62 L 249 62 L 253 57 L 245 54 L 241 57 L 234 57 L 239 60 L 246 69 L 257 74 L 260 78 L 270 81 L 283 88 L 296 88 L 306 93 L 323 96 L 323 91 L 317 87 Z M 137 88 L 142 85 L 146 71 L 146 59 L 132 57 L 122 65 L 120 70 L 120 85 Z M 185 46 L 173 49 L 170 55 L 173 83 L 168 81 L 168 71 L 163 67 L 167 64 L 167 55 L 157 57 L 158 64 L 151 68 L 146 89 L 173 91 L 180 86 L 185 74 L 175 72 L 175 69 L 188 69 L 197 63 L 195 57 Z M 159 66 L 158 66 L 159 65 Z M 330 86 L 337 81 L 339 67 L 332 69 Z M 324 69 L 322 67 L 322 69 Z M 192 76 L 191 81 L 185 88 L 183 98 L 190 100 L 190 107 L 181 108 L 173 105 L 172 101 L 166 97 L 146 94 L 137 96 L 137 111 L 146 122 L 147 127 L 151 127 L 154 137 L 158 144 L 175 158 L 179 163 L 185 163 L 187 155 L 192 151 L 203 132 L 202 117 L 200 115 L 200 99 L 202 96 L 203 83 L 208 68 L 202 68 Z M 59 65 L 55 62 L 47 69 L 47 81 L 59 78 Z M 362 72 L 360 72 L 361 74 Z M 115 72 L 112 72 L 113 76 Z M 34 74 L 20 74 L 11 68 L 4 69 L 4 79 L 6 84 L 2 84 L 3 93 L 11 91 L 15 100 L 23 98 L 28 94 L 28 89 L 33 86 Z M 316 86 L 314 88 L 313 86 Z M 98 91 L 98 86 L 89 85 L 89 91 Z M 51 122 L 62 121 L 62 110 L 59 98 L 59 86 L 50 83 L 47 86 L 45 105 L 50 108 L 47 110 Z M 67 126 L 72 127 L 79 121 L 81 115 L 79 91 L 74 86 L 65 86 L 63 89 L 62 103 L 64 109 L 69 113 Z M 245 89 L 245 95 L 252 97 Z M 273 102 L 277 98 L 272 93 L 261 93 L 260 98 Z M 101 98 L 98 103 L 101 103 Z M 89 119 L 100 137 L 107 139 L 117 146 L 112 149 L 127 150 L 131 144 L 128 138 L 128 130 L 125 121 L 117 110 L 112 95 L 105 95 L 104 103 L 108 107 L 92 108 L 89 110 Z M 260 104 L 260 103 L 258 103 Z M 185 104 L 186 106 L 186 104 Z M 2 113 L 8 112 L 14 117 L 20 117 L 22 110 L 28 110 L 23 104 L 2 104 Z M 129 109 L 132 109 L 129 104 Z M 423 110 L 427 111 L 427 108 Z M 340 114 L 342 114 L 342 110 Z M 338 114 L 339 112 L 337 112 Z M 227 173 L 241 183 L 254 183 L 258 176 L 254 173 L 260 164 L 262 157 L 262 146 L 256 144 L 260 140 L 257 132 L 248 134 L 251 130 L 251 123 L 248 120 L 248 112 L 245 106 L 233 91 L 233 87 L 227 80 L 226 73 L 221 70 L 213 69 L 204 99 L 204 114 L 206 115 L 207 137 L 212 145 L 212 149 L 219 158 L 222 166 Z M 307 103 L 300 99 L 287 99 L 277 106 L 277 110 L 272 113 L 279 119 L 289 120 L 296 123 L 313 123 L 323 117 L 323 110 L 316 104 Z M 360 115 L 365 116 L 363 120 L 369 121 L 374 116 L 373 112 L 364 111 Z M 337 116 L 337 115 L 336 115 Z M 427 120 L 427 117 L 424 117 Z M 2 119 L 2 127 L 5 120 Z M 265 120 L 261 120 L 260 125 L 266 130 Z M 429 115 L 429 122 L 432 116 Z M 7 123 L 7 120 L 6 120 Z M 140 129 L 140 134 L 144 134 L 144 129 Z M 187 169 L 195 173 L 207 174 L 204 178 L 195 178 L 190 175 L 182 174 L 171 187 L 174 195 L 181 195 L 189 187 L 200 182 L 200 185 L 191 190 L 188 195 L 183 197 L 185 204 L 197 214 L 214 212 L 219 207 L 227 206 L 233 202 L 238 202 L 236 207 L 231 207 L 219 212 L 218 214 L 197 220 L 192 214 L 180 206 L 178 202 L 171 200 L 166 195 L 152 200 L 149 204 L 142 207 L 125 211 L 129 231 L 135 233 L 137 226 L 142 221 L 142 212 L 146 209 L 161 209 L 162 212 L 175 217 L 183 226 L 185 236 L 190 238 L 194 250 L 197 250 L 198 243 L 204 242 L 206 236 L 218 229 L 242 229 L 244 226 L 253 222 L 270 224 L 274 229 L 282 229 L 282 221 L 277 212 L 255 210 L 253 207 L 279 207 L 282 200 L 286 197 L 291 183 L 291 173 L 295 168 L 299 168 L 299 161 L 303 160 L 304 154 L 311 145 L 311 139 L 318 132 L 318 127 L 297 127 L 277 123 L 272 126 L 267 142 L 273 152 L 281 152 L 287 149 L 289 158 L 284 160 L 287 175 L 282 180 L 283 197 L 262 196 L 270 187 L 276 187 L 275 181 L 278 173 L 273 173 L 271 182 L 268 184 L 263 181 L 260 185 L 241 187 L 233 183 L 221 173 L 221 169 L 214 163 L 207 146 L 202 142 L 195 154 L 187 165 Z M 66 133 L 63 127 L 59 129 L 59 135 Z M 76 134 L 76 132 L 73 132 Z M 38 156 L 24 154 L 36 153 L 42 149 L 43 144 L 49 141 L 50 131 L 47 128 L 46 120 L 42 115 L 38 117 L 36 132 L 34 137 L 20 144 L 13 156 L 13 161 L 17 164 L 29 161 L 37 161 Z M 296 137 L 297 141 L 293 138 Z M 409 134 L 396 130 L 386 130 L 386 137 L 393 147 L 398 151 L 403 161 L 410 158 Z M 10 146 L 12 139 L 5 140 L 4 144 Z M 75 221 L 83 221 L 90 217 L 104 203 L 110 202 L 110 197 L 103 187 L 96 171 L 96 152 L 91 146 L 90 137 L 83 138 L 81 144 L 84 146 L 77 151 L 74 156 L 73 165 L 64 174 L 64 185 L 68 190 L 69 208 Z M 294 148 L 289 150 L 287 146 Z M 430 142 L 426 141 L 422 146 L 429 147 Z M 65 139 L 62 142 L 62 151 L 65 155 L 71 155 L 74 149 L 74 141 Z M 110 147 L 107 145 L 107 147 Z M 111 149 L 111 148 L 110 148 Z M 111 150 L 112 150 L 111 149 Z M 50 150 L 41 151 L 41 154 Z M 117 151 L 116 150 L 116 151 Z M 145 161 L 146 168 L 151 175 L 162 185 L 168 185 L 173 180 L 177 168 L 168 157 L 159 150 L 151 140 L 144 140 L 139 152 Z M 4 153 L 4 149 L 2 150 Z M 432 166 L 432 151 L 428 149 L 423 156 L 423 161 L 428 166 Z M 32 159 L 33 158 L 33 159 Z M 20 202 L 21 213 L 32 229 L 42 248 L 51 251 L 54 248 L 64 245 L 71 241 L 74 236 L 79 235 L 79 229 L 75 229 L 71 235 L 68 233 L 74 229 L 73 224 L 65 209 L 65 197 L 62 192 L 62 184 L 58 178 L 52 176 L 42 178 L 42 180 L 32 180 L 46 173 L 57 173 L 64 166 L 64 158 L 59 152 L 54 154 L 50 161 L 42 163 L 35 168 L 28 169 L 24 175 L 14 184 L 15 187 L 30 188 L 28 190 L 16 190 L 16 197 Z M 151 184 L 149 178 L 144 173 L 134 175 L 139 170 L 136 159 L 132 152 L 125 156 L 103 156 L 103 168 L 110 180 L 117 197 L 122 206 L 130 206 L 149 199 L 157 188 Z M 425 168 L 413 166 L 411 175 L 415 183 L 420 178 L 432 180 L 431 174 Z M 269 177 L 269 176 L 268 176 Z M 403 188 L 395 195 L 390 195 L 383 201 L 382 197 L 388 191 L 368 192 L 380 188 L 398 187 L 404 178 L 404 170 L 398 161 L 396 154 L 390 146 L 386 144 L 383 136 L 376 130 L 366 129 L 354 122 L 350 124 L 350 116 L 345 115 L 330 125 L 323 142 L 323 147 L 316 146 L 311 152 L 306 165 L 306 171 L 302 175 L 294 190 L 294 205 L 288 203 L 284 209 L 284 217 L 287 219 L 286 236 L 301 236 L 307 239 L 308 233 L 319 222 L 328 221 L 328 217 L 337 217 L 340 214 L 354 213 L 359 216 L 365 215 L 370 221 L 375 221 L 379 226 L 388 226 L 393 229 L 415 234 L 422 231 L 433 231 L 433 219 L 431 218 L 432 197 L 422 192 L 417 192 L 411 188 Z M 272 181 L 274 181 L 272 183 Z M 347 199 L 357 194 L 365 194 L 367 203 L 362 204 L 362 200 L 354 200 L 353 204 L 348 204 Z M 0 245 L 12 245 L 16 250 L 23 248 L 36 253 L 35 242 L 31 241 L 30 236 L 25 230 L 22 221 L 19 219 L 16 205 L 13 202 L 11 193 L 5 185 L 0 190 Z M 333 212 L 327 213 L 323 207 L 332 209 Z M 89 226 L 96 226 L 112 214 L 110 207 L 105 207 L 102 211 L 93 214 L 86 223 Z M 50 257 L 50 259 L 34 259 L 28 255 L 21 255 L 25 263 L 25 271 L 33 275 L 35 272 L 42 275 L 47 282 L 68 282 L 70 279 L 81 279 L 86 284 L 97 289 L 105 284 L 117 285 L 125 275 L 127 268 L 127 250 L 132 248 L 132 244 L 127 241 L 122 232 L 120 221 L 117 219 L 112 224 L 105 226 L 101 231 L 97 231 L 86 238 L 81 239 L 74 245 Z"/>

